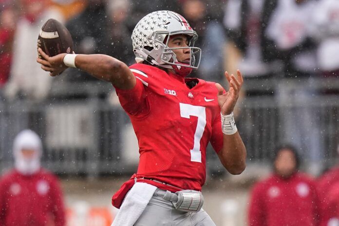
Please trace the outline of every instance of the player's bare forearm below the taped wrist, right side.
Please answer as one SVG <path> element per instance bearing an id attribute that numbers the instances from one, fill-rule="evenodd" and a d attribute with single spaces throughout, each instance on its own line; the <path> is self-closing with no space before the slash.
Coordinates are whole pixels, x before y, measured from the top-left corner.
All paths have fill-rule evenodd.
<path id="1" fill-rule="evenodd" d="M 246 148 L 239 132 L 232 135 L 224 134 L 224 146 L 218 156 L 231 174 L 240 174 L 246 167 Z"/>

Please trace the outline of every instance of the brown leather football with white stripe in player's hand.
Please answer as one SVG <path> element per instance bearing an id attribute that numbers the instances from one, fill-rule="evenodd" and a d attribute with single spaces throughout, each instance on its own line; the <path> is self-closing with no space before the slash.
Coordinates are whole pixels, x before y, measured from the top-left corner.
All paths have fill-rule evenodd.
<path id="1" fill-rule="evenodd" d="M 67 28 L 56 19 L 48 19 L 42 26 L 37 42 L 48 56 L 53 57 L 61 53 L 73 53 L 73 39 Z M 38 53 L 38 57 L 41 58 Z"/>

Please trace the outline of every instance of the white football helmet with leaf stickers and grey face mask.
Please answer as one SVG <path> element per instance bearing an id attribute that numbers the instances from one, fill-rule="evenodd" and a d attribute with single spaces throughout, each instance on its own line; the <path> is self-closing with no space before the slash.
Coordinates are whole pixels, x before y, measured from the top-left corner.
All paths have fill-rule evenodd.
<path id="1" fill-rule="evenodd" d="M 188 47 L 169 48 L 170 36 L 188 35 Z M 199 67 L 201 49 L 194 47 L 198 35 L 180 14 L 171 11 L 155 11 L 146 15 L 135 26 L 132 33 L 136 62 L 146 60 L 152 65 L 173 69 L 178 75 L 187 76 Z M 174 49 L 190 50 L 189 64 L 179 62 Z"/>

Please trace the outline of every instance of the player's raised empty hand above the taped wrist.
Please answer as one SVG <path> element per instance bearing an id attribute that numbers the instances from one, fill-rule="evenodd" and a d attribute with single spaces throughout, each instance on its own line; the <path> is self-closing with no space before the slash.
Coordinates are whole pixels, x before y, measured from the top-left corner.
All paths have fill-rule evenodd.
<path id="1" fill-rule="evenodd" d="M 218 103 L 223 115 L 233 112 L 240 94 L 240 89 L 244 83 L 243 75 L 241 75 L 239 70 L 237 70 L 237 74 L 238 76 L 235 77 L 233 74 L 228 75 L 228 73 L 225 72 L 225 77 L 229 84 L 229 90 L 225 94 L 223 87 L 218 83 L 215 84 L 218 89 Z"/>

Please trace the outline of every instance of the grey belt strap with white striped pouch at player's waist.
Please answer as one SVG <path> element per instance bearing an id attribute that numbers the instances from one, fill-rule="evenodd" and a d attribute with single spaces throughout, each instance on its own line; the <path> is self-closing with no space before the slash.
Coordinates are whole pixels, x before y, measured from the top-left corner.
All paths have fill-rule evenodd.
<path id="1" fill-rule="evenodd" d="M 181 190 L 173 193 L 158 188 L 154 195 L 171 202 L 175 209 L 185 212 L 198 212 L 204 204 L 203 194 L 195 190 Z"/>

